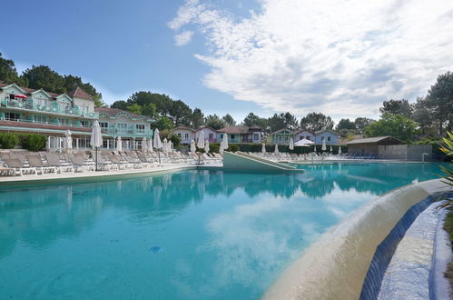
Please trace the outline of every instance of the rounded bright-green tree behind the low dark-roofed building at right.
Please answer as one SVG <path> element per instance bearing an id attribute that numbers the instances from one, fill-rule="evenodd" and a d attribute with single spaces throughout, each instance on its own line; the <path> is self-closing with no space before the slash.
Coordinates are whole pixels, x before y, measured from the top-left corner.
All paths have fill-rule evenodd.
<path id="1" fill-rule="evenodd" d="M 417 124 L 403 115 L 386 113 L 379 121 L 365 127 L 365 137 L 391 135 L 399 140 L 410 143 L 418 134 Z"/>

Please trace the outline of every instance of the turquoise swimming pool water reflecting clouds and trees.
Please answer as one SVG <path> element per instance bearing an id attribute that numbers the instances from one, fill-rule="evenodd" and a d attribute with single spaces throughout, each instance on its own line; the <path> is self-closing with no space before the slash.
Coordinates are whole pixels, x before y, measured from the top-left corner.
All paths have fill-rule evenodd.
<path id="1" fill-rule="evenodd" d="M 0 191 L 1 299 L 257 299 L 320 234 L 438 164 L 192 170 Z"/>

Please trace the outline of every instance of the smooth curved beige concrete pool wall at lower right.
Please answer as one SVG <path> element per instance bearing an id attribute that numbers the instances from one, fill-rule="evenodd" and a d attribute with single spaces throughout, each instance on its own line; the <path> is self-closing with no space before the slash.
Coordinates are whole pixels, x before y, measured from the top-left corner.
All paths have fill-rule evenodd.
<path id="1" fill-rule="evenodd" d="M 361 206 L 304 251 L 263 299 L 359 299 L 378 246 L 412 206 L 444 188 L 429 180 Z"/>

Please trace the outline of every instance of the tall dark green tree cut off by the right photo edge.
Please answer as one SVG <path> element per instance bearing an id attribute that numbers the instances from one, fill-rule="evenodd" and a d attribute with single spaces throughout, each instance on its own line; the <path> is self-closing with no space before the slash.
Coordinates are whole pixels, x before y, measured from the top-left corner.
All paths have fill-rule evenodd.
<path id="1" fill-rule="evenodd" d="M 438 75 L 436 84 L 431 85 L 426 96 L 426 107 L 432 112 L 432 118 L 438 121 L 438 135 L 445 129 L 452 130 L 453 119 L 453 73 Z"/>

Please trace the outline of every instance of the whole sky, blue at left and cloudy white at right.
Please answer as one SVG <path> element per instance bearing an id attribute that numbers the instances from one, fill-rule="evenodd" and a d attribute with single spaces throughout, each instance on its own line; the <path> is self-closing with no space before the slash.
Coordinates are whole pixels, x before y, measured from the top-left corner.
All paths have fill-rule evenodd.
<path id="1" fill-rule="evenodd" d="M 151 90 L 240 120 L 251 111 L 377 117 L 383 100 L 426 95 L 453 64 L 451 0 L 18 0 L 4 8 L 25 20 L 0 20 L 12 37 L 0 51 L 19 69 L 82 75 L 107 103 Z"/>

